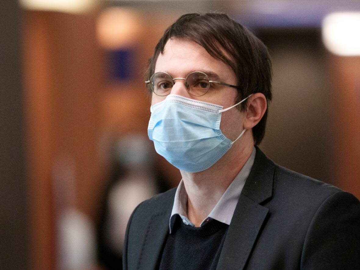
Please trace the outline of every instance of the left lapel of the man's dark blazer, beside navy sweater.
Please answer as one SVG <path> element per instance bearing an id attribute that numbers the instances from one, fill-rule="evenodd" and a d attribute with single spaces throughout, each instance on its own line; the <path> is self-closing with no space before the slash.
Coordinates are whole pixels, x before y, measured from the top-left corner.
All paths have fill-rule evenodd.
<path id="1" fill-rule="evenodd" d="M 170 212 L 154 214 L 148 223 L 143 247 L 138 262 L 138 270 L 157 269 L 161 260 L 161 250 L 169 234 Z"/>

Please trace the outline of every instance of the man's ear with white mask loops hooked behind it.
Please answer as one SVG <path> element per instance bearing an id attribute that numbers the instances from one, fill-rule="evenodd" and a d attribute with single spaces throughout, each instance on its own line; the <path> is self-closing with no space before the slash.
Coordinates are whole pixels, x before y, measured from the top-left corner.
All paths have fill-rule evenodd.
<path id="1" fill-rule="evenodd" d="M 252 129 L 264 116 L 267 102 L 264 94 L 256 93 L 249 96 L 244 119 L 244 129 Z"/>

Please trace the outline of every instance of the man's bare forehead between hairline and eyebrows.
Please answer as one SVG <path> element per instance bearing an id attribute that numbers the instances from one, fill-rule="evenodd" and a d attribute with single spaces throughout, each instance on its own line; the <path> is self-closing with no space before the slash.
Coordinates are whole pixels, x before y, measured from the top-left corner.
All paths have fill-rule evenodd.
<path id="1" fill-rule="evenodd" d="M 211 71 L 225 79 L 235 76 L 230 66 L 213 58 L 201 45 L 177 38 L 169 39 L 158 56 L 154 72 L 161 71 L 175 77 L 185 77 L 192 71 Z"/>

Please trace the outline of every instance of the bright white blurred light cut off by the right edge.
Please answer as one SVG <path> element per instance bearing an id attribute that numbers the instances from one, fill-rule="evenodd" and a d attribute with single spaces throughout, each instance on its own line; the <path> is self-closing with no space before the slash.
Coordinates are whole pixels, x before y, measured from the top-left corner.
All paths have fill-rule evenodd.
<path id="1" fill-rule="evenodd" d="M 360 12 L 338 12 L 323 20 L 325 47 L 334 54 L 360 55 Z"/>

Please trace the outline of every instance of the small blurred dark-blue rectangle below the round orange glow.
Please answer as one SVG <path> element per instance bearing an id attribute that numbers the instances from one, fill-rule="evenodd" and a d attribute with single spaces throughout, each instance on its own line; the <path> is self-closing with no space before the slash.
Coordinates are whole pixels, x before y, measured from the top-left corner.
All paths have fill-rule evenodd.
<path id="1" fill-rule="evenodd" d="M 110 75 L 113 80 L 129 81 L 135 76 L 134 50 L 120 49 L 110 51 Z"/>

